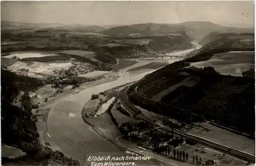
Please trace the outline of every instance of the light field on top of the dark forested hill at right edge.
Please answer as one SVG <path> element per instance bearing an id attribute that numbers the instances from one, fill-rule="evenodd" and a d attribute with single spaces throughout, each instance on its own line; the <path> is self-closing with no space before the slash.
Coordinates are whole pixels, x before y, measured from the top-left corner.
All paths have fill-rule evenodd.
<path id="1" fill-rule="evenodd" d="M 254 51 L 231 51 L 215 54 L 208 61 L 191 63 L 190 66 L 203 68 L 212 66 L 224 75 L 242 76 L 242 72 L 254 68 Z"/>

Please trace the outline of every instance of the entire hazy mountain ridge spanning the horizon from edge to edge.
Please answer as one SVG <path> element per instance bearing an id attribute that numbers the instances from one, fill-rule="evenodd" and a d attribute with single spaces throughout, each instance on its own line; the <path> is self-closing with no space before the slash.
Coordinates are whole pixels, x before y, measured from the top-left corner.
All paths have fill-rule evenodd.
<path id="1" fill-rule="evenodd" d="M 132 25 L 65 25 L 60 23 L 25 23 L 14 21 L 2 21 L 1 28 L 7 26 L 18 27 L 37 27 L 37 28 L 55 28 L 55 29 L 71 29 L 74 31 L 102 33 L 105 35 L 118 36 L 120 34 L 177 34 L 186 33 L 194 39 L 201 39 L 211 32 L 247 32 L 254 31 L 250 28 L 227 27 L 207 21 L 186 21 L 182 23 L 140 23 Z"/>

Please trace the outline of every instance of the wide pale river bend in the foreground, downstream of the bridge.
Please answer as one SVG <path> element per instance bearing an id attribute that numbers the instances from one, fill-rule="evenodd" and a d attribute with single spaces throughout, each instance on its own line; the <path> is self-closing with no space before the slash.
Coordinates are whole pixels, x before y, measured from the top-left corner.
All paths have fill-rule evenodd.
<path id="1" fill-rule="evenodd" d="M 48 133 L 63 153 L 80 160 L 82 163 L 86 163 L 88 155 L 127 155 L 84 123 L 81 117 L 81 110 L 83 105 L 90 100 L 92 94 L 98 94 L 120 85 L 140 80 L 146 74 L 153 72 L 148 71 L 129 76 L 125 73 L 130 68 L 132 67 L 120 70 L 122 74 L 120 79 L 90 87 L 68 96 L 50 110 L 47 119 Z M 143 162 L 140 164 L 152 163 Z"/>

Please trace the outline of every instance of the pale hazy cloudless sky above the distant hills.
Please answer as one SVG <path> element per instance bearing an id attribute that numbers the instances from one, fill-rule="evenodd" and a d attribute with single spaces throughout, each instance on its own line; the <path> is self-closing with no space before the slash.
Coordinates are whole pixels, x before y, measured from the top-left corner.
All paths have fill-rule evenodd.
<path id="1" fill-rule="evenodd" d="M 134 24 L 210 21 L 253 27 L 253 1 L 1 2 L 1 19 L 32 23 Z"/>

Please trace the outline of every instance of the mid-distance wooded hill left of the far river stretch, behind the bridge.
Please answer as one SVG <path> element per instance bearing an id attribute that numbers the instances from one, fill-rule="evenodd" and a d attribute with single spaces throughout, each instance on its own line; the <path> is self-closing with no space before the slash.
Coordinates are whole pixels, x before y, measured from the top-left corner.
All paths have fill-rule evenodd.
<path id="1" fill-rule="evenodd" d="M 112 58 L 140 58 L 160 51 L 171 51 L 177 49 L 187 49 L 193 47 L 191 39 L 186 34 L 176 36 L 171 35 L 145 35 L 141 37 L 125 37 L 123 41 L 131 41 L 131 43 L 118 44 L 111 43 L 101 46 L 90 46 L 91 51 L 96 52 L 97 57 Z M 136 40 L 150 40 L 148 44 L 137 44 Z M 96 58 L 97 58 L 96 57 Z M 102 60 L 101 60 L 102 61 Z"/>

